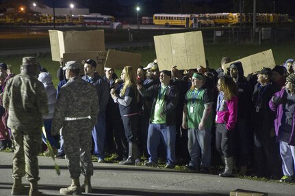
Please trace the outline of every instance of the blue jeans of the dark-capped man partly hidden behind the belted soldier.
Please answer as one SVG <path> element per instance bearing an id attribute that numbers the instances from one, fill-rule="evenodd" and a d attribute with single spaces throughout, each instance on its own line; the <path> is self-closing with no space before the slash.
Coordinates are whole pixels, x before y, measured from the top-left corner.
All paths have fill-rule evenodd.
<path id="1" fill-rule="evenodd" d="M 92 130 L 92 137 L 94 141 L 93 154 L 99 156 L 99 158 L 105 158 L 105 131 L 105 113 L 99 113 L 99 116 L 97 117 L 97 124 L 95 124 Z"/>

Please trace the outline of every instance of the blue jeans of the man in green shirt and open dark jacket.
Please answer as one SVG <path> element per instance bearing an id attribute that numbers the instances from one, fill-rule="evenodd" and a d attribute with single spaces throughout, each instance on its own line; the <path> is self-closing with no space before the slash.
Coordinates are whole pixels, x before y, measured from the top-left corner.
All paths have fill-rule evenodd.
<path id="1" fill-rule="evenodd" d="M 165 124 L 150 124 L 148 130 L 147 150 L 149 161 L 157 163 L 157 148 L 162 140 L 166 150 L 166 164 L 175 165 L 175 137 L 176 126 L 166 126 Z"/>

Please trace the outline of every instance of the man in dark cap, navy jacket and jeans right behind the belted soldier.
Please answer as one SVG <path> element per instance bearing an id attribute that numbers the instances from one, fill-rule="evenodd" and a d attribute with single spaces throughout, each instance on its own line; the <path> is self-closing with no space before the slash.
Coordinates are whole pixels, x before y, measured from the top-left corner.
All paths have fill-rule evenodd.
<path id="1" fill-rule="evenodd" d="M 107 102 L 109 100 L 109 87 L 105 80 L 99 73 L 95 71 L 97 68 L 97 62 L 88 59 L 86 61 L 82 61 L 84 64 L 84 73 L 85 75 L 82 77 L 85 81 L 92 83 L 94 87 L 97 89 L 97 96 L 99 96 L 99 115 L 97 117 L 97 124 L 95 124 L 92 129 L 92 137 L 94 141 L 94 155 L 98 156 L 99 163 L 105 162 L 105 154 L 104 154 L 104 145 L 105 145 L 105 108 L 107 107 Z M 91 96 L 91 95 L 86 95 Z"/>

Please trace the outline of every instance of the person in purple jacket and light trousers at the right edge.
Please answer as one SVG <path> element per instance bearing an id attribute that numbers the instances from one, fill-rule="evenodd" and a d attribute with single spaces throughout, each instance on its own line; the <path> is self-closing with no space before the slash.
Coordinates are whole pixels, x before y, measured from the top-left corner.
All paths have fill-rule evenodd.
<path id="1" fill-rule="evenodd" d="M 280 182 L 294 182 L 295 164 L 295 74 L 287 76 L 285 87 L 272 96 L 270 109 L 277 111 L 274 129 L 280 144 L 283 174 Z"/>

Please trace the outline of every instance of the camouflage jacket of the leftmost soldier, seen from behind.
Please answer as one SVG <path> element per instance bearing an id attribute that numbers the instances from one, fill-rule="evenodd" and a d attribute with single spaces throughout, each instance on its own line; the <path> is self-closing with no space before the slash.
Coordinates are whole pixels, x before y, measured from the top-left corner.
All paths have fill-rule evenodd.
<path id="1" fill-rule="evenodd" d="M 8 109 L 8 127 L 38 129 L 42 115 L 47 115 L 47 94 L 35 76 L 22 72 L 8 81 L 3 93 L 3 107 Z"/>

